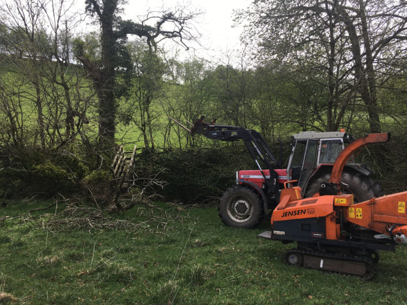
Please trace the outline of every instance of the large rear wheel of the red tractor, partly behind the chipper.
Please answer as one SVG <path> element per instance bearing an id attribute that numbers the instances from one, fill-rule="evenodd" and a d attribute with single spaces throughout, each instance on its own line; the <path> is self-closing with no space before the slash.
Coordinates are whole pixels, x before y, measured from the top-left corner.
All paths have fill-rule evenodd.
<path id="1" fill-rule="evenodd" d="M 305 192 L 305 197 L 312 197 L 319 192 L 319 186 L 323 182 L 328 182 L 331 174 L 324 174 L 321 177 L 314 179 Z M 355 202 L 362 202 L 373 197 L 383 196 L 383 190 L 377 182 L 369 176 L 364 176 L 360 173 L 344 171 L 341 181 L 348 187 L 341 186 L 341 191 L 344 194 L 353 194 Z"/>

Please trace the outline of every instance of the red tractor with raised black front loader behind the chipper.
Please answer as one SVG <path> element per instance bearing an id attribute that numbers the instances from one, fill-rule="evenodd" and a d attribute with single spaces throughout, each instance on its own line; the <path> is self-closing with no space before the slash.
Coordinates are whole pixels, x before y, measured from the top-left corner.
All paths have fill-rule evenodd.
<path id="1" fill-rule="evenodd" d="M 354 141 L 352 135 L 340 132 L 306 131 L 293 135 L 286 169 L 281 168 L 280 158 L 271 152 L 263 137 L 254 130 L 243 127 L 216 125 L 195 120 L 190 133 L 205 135 L 223 141 L 243 140 L 258 169 L 236 172 L 236 186 L 224 192 L 218 206 L 223 223 L 232 227 L 251 228 L 273 210 L 280 199 L 285 181 L 298 180 L 297 186 L 304 198 L 318 193 L 323 182 L 329 181 L 332 166 L 345 145 Z M 192 125 L 192 124 L 191 124 Z M 264 164 L 262 168 L 259 161 Z M 355 202 L 362 202 L 384 195 L 382 188 L 370 176 L 366 164 L 348 163 L 341 177 L 342 194 L 354 195 Z"/>

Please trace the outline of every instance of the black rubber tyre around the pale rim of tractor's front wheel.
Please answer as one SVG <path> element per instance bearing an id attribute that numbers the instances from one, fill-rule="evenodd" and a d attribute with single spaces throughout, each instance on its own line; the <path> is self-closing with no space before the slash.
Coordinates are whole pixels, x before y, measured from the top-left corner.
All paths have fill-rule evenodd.
<path id="1" fill-rule="evenodd" d="M 255 210 L 256 213 L 254 215 L 251 216 L 251 219 L 249 219 L 248 221 L 244 222 L 244 223 L 237 223 L 234 220 L 230 219 L 229 216 L 227 215 L 227 203 L 228 203 L 228 198 L 230 198 L 231 196 L 234 196 L 235 193 L 243 192 L 243 195 L 252 197 L 252 206 L 255 207 L 257 206 L 257 209 Z M 229 189 L 227 189 L 218 204 L 218 215 L 220 217 L 220 219 L 222 220 L 222 222 L 226 225 L 226 226 L 230 226 L 230 227 L 236 227 L 236 228 L 253 228 L 255 226 L 257 226 L 261 220 L 263 219 L 264 216 L 264 206 L 263 206 L 263 202 L 261 201 L 261 199 L 259 198 L 259 195 L 251 190 L 248 187 L 244 187 L 244 186 L 234 186 L 231 187 Z"/>

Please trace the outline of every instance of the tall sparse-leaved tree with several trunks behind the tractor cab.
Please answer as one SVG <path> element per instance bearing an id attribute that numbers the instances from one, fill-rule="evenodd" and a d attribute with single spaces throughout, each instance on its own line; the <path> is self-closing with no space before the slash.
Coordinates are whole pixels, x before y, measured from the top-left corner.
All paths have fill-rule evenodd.
<path id="1" fill-rule="evenodd" d="M 259 43 L 259 53 L 325 75 L 328 130 L 337 128 L 347 105 L 359 98 L 370 131 L 378 132 L 377 89 L 388 80 L 383 63 L 396 67 L 403 56 L 398 47 L 406 39 L 406 7 L 375 0 L 265 1 L 241 18 L 249 19 L 247 33 Z"/>

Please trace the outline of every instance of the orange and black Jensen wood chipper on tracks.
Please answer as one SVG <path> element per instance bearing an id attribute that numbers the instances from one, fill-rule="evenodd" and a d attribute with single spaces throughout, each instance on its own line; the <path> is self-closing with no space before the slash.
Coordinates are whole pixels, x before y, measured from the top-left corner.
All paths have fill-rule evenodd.
<path id="1" fill-rule="evenodd" d="M 407 192 L 354 202 L 353 194 L 341 193 L 341 175 L 358 149 L 389 139 L 387 133 L 369 134 L 350 143 L 336 159 L 330 181 L 312 198 L 303 199 L 301 189 L 287 188 L 287 181 L 273 211 L 272 231 L 259 237 L 297 241 L 285 254 L 287 264 L 372 279 L 377 251 L 407 243 Z"/>

